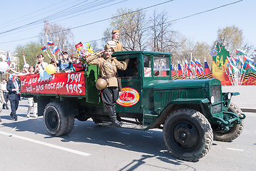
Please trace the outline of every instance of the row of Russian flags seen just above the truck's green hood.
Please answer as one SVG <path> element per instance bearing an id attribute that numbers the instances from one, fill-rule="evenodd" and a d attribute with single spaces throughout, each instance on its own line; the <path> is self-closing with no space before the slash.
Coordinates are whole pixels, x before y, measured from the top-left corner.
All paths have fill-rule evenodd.
<path id="1" fill-rule="evenodd" d="M 178 75 L 176 74 L 173 66 L 171 65 L 171 77 L 173 80 L 176 79 L 188 79 L 188 78 L 213 78 L 213 73 L 210 71 L 207 61 L 205 60 L 205 69 L 203 69 L 202 63 L 200 63 L 199 59 L 195 58 L 195 62 L 193 59 L 190 59 L 190 64 L 188 61 L 183 62 L 183 67 L 180 65 L 178 61 Z"/>

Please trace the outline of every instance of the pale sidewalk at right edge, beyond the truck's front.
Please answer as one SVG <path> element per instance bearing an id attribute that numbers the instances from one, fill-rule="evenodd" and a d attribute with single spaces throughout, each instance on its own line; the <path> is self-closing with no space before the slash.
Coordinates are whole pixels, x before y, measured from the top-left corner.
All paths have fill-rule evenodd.
<path id="1" fill-rule="evenodd" d="M 229 91 L 240 93 L 240 95 L 232 96 L 231 102 L 243 112 L 256 113 L 256 86 L 222 86 L 222 92 Z"/>

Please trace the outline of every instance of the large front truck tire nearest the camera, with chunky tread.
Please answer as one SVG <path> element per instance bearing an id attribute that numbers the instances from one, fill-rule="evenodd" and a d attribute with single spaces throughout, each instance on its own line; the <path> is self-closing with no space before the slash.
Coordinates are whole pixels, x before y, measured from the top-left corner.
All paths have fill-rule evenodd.
<path id="1" fill-rule="evenodd" d="M 175 157 L 196 161 L 213 145 L 213 130 L 205 116 L 190 108 L 170 113 L 163 125 L 163 138 Z"/>

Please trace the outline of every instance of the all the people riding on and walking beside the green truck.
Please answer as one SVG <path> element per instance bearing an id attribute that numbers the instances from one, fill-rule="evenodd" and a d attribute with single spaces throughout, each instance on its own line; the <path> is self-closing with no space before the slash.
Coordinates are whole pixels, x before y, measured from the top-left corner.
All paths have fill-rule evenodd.
<path id="1" fill-rule="evenodd" d="M 112 58 L 112 53 L 114 51 L 123 51 L 123 46 L 119 38 L 119 31 L 114 29 L 112 31 L 112 39 L 108 41 L 104 47 L 104 51 L 98 52 L 95 55 L 86 56 L 86 62 L 92 65 L 98 65 L 100 68 L 100 77 L 106 79 L 108 85 L 104 90 L 101 90 L 101 98 L 103 103 L 108 108 L 108 113 L 111 118 L 111 122 L 115 126 L 121 126 L 122 123 L 117 120 L 116 117 L 116 100 L 118 99 L 118 79 L 117 79 L 117 69 L 126 70 L 128 66 L 128 59 L 126 61 L 118 61 L 116 58 Z M 101 55 L 105 53 L 104 57 Z M 73 53 L 68 58 L 68 52 L 62 51 L 60 58 L 57 60 L 55 54 L 51 53 L 53 58 L 48 55 L 51 59 L 51 63 L 56 67 L 56 73 L 58 72 L 72 72 L 72 71 L 82 71 L 83 67 L 78 65 L 80 61 L 78 60 L 78 54 Z M 46 70 L 48 63 L 44 62 L 43 54 L 37 56 L 38 62 L 36 65 L 25 64 L 22 73 L 14 71 L 13 68 L 9 68 L 13 72 L 10 76 L 10 80 L 5 79 L 1 83 L 0 91 L 0 102 L 3 109 L 9 110 L 7 105 L 8 100 L 11 103 L 11 119 L 17 120 L 16 110 L 19 107 L 20 100 L 20 83 L 17 79 L 18 76 L 24 76 L 27 74 L 41 73 Z M 28 110 L 27 117 L 30 117 L 31 108 L 34 106 L 33 117 L 37 117 L 37 104 L 34 103 L 34 98 L 28 98 Z M 0 110 L 1 115 L 1 110 Z M 1 118 L 0 118 L 1 122 Z"/>

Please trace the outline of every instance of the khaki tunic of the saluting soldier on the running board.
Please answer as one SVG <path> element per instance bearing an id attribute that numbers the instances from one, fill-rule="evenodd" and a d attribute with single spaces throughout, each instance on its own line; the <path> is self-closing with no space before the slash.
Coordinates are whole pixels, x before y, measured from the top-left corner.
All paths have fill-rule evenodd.
<path id="1" fill-rule="evenodd" d="M 86 62 L 92 65 L 98 65 L 100 68 L 101 76 L 108 77 L 116 74 L 117 69 L 126 70 L 129 58 L 127 58 L 126 61 L 118 61 L 116 59 L 113 59 L 113 61 L 111 61 L 111 58 L 98 58 L 98 56 L 94 55 L 88 56 L 88 58 L 86 58 Z M 108 81 L 107 87 L 118 87 L 118 80 L 116 77 L 107 78 L 106 80 Z"/>

